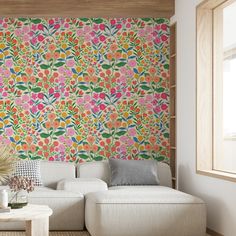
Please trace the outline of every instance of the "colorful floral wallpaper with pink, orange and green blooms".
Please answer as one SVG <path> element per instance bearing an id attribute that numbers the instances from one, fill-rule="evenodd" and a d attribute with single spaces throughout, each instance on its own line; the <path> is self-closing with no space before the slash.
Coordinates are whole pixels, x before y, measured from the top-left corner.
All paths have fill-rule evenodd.
<path id="1" fill-rule="evenodd" d="M 0 18 L 0 141 L 22 159 L 169 158 L 167 19 Z"/>

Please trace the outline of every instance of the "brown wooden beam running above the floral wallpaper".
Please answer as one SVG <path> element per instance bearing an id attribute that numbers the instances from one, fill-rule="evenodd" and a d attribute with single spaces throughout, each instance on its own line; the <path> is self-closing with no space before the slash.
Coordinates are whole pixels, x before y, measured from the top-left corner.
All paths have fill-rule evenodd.
<path id="1" fill-rule="evenodd" d="M 171 17 L 174 0 L 0 0 L 0 17 Z"/>

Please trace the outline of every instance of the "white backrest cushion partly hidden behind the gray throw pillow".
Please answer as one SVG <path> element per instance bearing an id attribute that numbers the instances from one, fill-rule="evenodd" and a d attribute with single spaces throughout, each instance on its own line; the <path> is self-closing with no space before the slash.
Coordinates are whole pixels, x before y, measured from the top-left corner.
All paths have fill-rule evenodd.
<path id="1" fill-rule="evenodd" d="M 157 175 L 160 185 L 172 187 L 171 170 L 168 164 L 158 162 Z M 109 184 L 110 176 L 108 161 L 85 162 L 77 166 L 77 177 L 98 178 Z"/>

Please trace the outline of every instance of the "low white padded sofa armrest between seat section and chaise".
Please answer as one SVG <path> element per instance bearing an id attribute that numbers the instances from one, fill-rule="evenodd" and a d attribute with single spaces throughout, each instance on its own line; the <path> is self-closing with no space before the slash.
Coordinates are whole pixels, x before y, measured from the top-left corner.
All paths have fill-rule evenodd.
<path id="1" fill-rule="evenodd" d="M 57 190 L 65 190 L 83 195 L 91 192 L 108 190 L 106 182 L 96 178 L 62 179 L 57 183 Z"/>

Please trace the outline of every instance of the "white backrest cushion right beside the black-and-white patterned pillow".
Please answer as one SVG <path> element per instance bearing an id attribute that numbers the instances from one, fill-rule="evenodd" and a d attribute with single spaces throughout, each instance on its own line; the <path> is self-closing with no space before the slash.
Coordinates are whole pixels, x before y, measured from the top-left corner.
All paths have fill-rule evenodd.
<path id="1" fill-rule="evenodd" d="M 40 171 L 43 186 L 54 188 L 61 179 L 75 178 L 75 165 L 70 162 L 41 161 Z"/>

